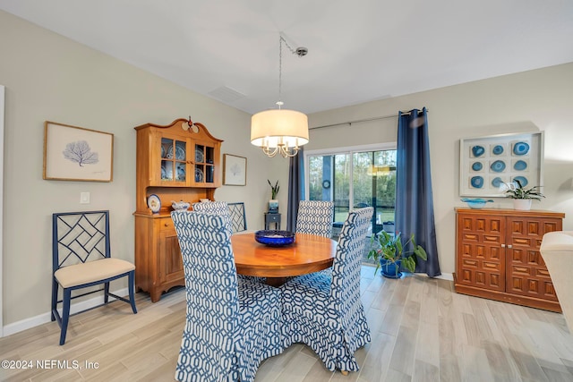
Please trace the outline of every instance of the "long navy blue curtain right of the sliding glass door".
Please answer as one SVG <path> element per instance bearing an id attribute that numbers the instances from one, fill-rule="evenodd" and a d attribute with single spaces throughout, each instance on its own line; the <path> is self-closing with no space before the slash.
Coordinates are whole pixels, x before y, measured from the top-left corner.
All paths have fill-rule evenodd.
<path id="1" fill-rule="evenodd" d="M 418 260 L 415 271 L 440 276 L 425 107 L 398 113 L 396 162 L 396 230 L 405 238 L 414 233 L 415 242 L 428 253 L 428 260 Z"/>

